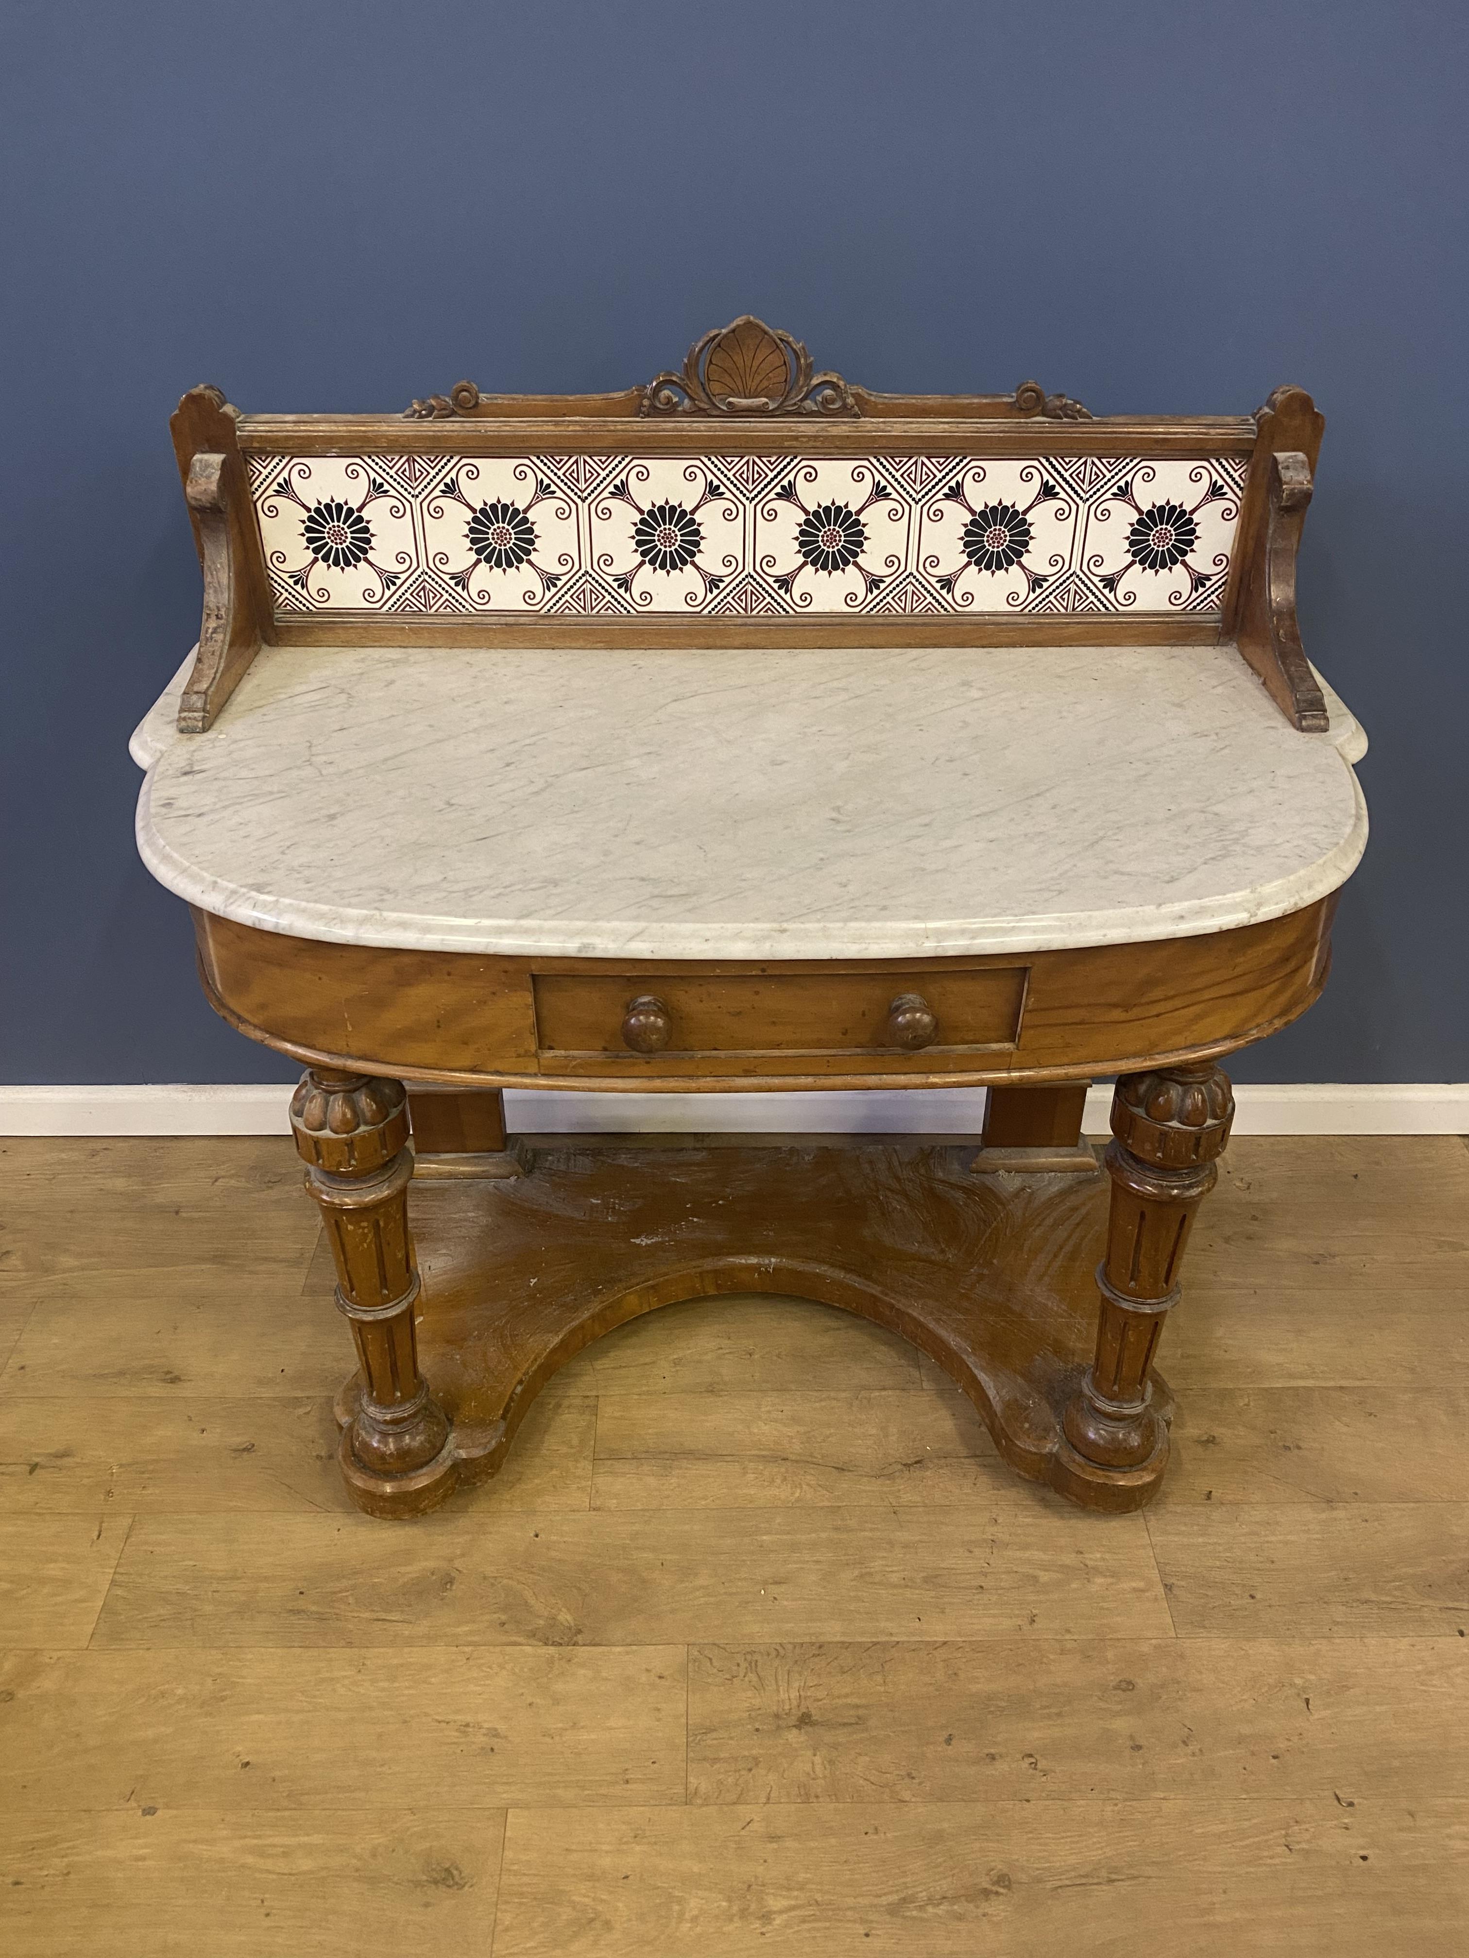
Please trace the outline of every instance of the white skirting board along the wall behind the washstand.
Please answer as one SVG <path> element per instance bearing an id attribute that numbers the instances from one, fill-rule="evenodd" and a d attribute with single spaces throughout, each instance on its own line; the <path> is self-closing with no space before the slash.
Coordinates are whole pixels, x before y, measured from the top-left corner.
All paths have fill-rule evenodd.
<path id="1" fill-rule="evenodd" d="M 1236 1087 L 1240 1136 L 1465 1136 L 1469 1081 Z M 0 1136 L 284 1136 L 290 1087 L 0 1087 Z M 1087 1096 L 1087 1134 L 1107 1134 L 1111 1087 Z M 864 1095 L 550 1095 L 507 1089 L 505 1120 L 546 1130 L 734 1130 L 973 1136 L 983 1089 Z"/>

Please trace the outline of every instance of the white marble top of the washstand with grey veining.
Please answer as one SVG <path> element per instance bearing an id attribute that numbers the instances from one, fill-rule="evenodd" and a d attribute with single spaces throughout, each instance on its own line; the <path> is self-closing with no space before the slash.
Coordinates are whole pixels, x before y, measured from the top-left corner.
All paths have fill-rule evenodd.
<path id="1" fill-rule="evenodd" d="M 133 736 L 143 862 L 302 938 L 915 957 L 1181 938 L 1342 885 L 1365 736 L 1238 652 L 266 648 Z"/>

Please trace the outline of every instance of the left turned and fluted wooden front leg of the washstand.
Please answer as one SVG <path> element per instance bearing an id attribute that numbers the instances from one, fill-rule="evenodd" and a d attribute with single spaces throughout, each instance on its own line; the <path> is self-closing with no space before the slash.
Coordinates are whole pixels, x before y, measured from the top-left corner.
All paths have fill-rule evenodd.
<path id="1" fill-rule="evenodd" d="M 456 1480 L 449 1420 L 419 1373 L 419 1275 L 407 1230 L 407 1095 L 402 1081 L 311 1067 L 290 1104 L 306 1187 L 337 1261 L 337 1308 L 362 1386 L 341 1441 L 347 1488 L 370 1515 L 417 1515 Z"/>

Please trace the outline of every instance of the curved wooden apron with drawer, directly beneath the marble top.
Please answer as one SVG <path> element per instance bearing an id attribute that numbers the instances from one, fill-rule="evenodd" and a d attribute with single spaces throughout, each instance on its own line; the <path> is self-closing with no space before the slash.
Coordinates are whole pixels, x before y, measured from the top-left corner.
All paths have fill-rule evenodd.
<path id="1" fill-rule="evenodd" d="M 793 1089 L 1081 1081 L 1228 1053 L 1318 997 L 1334 901 L 1201 938 L 973 959 L 490 957 L 319 944 L 196 910 L 223 1018 L 321 1067 L 464 1087 Z M 932 1046 L 889 1038 L 917 993 Z M 625 1026 L 656 1001 L 668 1044 Z M 639 1040 L 662 1020 L 633 1014 Z"/>

